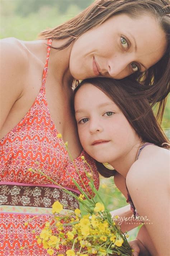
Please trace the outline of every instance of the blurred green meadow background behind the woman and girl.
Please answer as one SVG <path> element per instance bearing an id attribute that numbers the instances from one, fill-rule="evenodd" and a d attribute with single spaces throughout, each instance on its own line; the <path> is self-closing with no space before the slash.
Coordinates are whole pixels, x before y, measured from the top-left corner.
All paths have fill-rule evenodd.
<path id="1" fill-rule="evenodd" d="M 80 13 L 93 0 L 0 0 L 0 38 L 35 40 L 39 32 L 53 28 Z M 162 127 L 170 137 L 170 101 L 167 102 Z M 101 178 L 99 193 L 110 211 L 127 205 L 113 178 Z M 129 240 L 137 230 L 129 232 Z"/>

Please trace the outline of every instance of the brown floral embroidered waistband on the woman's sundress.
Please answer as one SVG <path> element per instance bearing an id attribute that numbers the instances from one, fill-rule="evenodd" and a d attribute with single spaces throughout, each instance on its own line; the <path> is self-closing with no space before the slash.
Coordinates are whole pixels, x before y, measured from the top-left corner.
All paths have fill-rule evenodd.
<path id="1" fill-rule="evenodd" d="M 80 194 L 74 189 L 67 189 L 76 196 Z M 56 185 L 0 182 L 1 206 L 52 208 L 55 201 L 59 201 L 64 209 L 72 210 L 79 207 L 75 197 Z"/>

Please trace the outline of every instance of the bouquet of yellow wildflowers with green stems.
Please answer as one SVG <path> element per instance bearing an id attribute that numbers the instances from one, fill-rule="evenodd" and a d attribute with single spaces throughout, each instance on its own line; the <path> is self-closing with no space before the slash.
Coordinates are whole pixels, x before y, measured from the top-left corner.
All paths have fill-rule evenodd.
<path id="1" fill-rule="evenodd" d="M 69 153 L 67 142 L 65 146 Z M 81 159 L 89 166 L 84 156 Z M 37 172 L 31 168 L 29 171 Z M 38 172 L 45 175 L 41 170 Z M 56 255 L 56 251 L 61 246 L 68 248 L 67 256 L 132 255 L 133 250 L 126 239 L 128 235 L 123 234 L 120 226 L 115 220 L 113 221 L 107 206 L 94 186 L 91 173 L 86 170 L 85 172 L 92 192 L 98 196 L 100 201 L 95 202 L 94 198 L 90 198 L 89 192 L 86 189 L 83 190 L 74 179 L 72 181 L 80 191 L 80 196 L 60 186 L 66 193 L 76 198 L 88 214 L 83 215 L 78 208 L 63 212 L 63 205 L 56 201 L 52 205 L 51 220 L 45 223 L 41 233 L 36 236 L 37 243 L 42 244 L 49 255 Z M 48 176 L 46 178 L 51 180 Z M 59 185 L 54 180 L 51 181 Z M 64 256 L 61 253 L 57 255 Z"/>

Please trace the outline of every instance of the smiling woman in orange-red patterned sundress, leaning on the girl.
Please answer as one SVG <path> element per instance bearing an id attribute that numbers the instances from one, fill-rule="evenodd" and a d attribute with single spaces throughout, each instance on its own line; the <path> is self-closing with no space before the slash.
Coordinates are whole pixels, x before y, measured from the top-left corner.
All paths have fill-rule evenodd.
<path id="1" fill-rule="evenodd" d="M 16 211 L 15 215 L 11 215 L 14 209 L 8 207 L 9 213 L 2 214 L 2 218 L 8 220 L 3 224 L 5 233 L 2 248 L 5 252 L 10 250 L 11 254 L 15 253 L 22 244 L 23 234 L 25 244 L 34 241 L 31 235 L 33 226 L 29 225 L 27 232 L 23 227 L 29 215 L 19 213 L 18 200 L 20 207 L 25 207 L 22 211 L 25 211 L 26 206 L 34 205 L 42 208 L 41 211 L 36 209 L 42 213 L 44 208 L 51 208 L 50 200 L 56 199 L 47 195 L 58 193 L 55 190 L 58 188 L 49 190 L 46 185 L 49 181 L 28 172 L 28 168 L 40 168 L 59 184 L 75 189 L 71 178 L 74 176 L 80 181 L 63 146 L 63 142 L 68 141 L 71 155 L 83 176 L 80 163 L 82 148 L 71 108 L 74 78 L 103 75 L 120 79 L 131 75 L 134 80 L 143 81 L 145 86 L 142 88 L 146 89 L 145 93 L 151 102 L 164 101 L 169 79 L 168 13 L 166 0 L 101 0 L 69 22 L 41 33 L 37 41 L 2 40 L 1 194 L 2 205 L 10 200 L 9 206 Z M 140 94 L 143 95 L 143 92 Z M 63 139 L 57 138 L 57 133 L 61 133 Z M 93 170 L 98 187 L 99 178 L 95 166 Z M 84 181 L 87 182 L 85 177 Z M 21 184 L 23 188 L 17 187 Z M 39 188 L 40 184 L 46 185 L 47 194 L 42 192 L 44 187 Z M 22 193 L 17 194 L 17 191 Z M 7 199 L 7 193 L 14 198 Z M 30 194 L 35 196 L 31 199 Z M 7 211 L 7 205 L 1 209 L 2 212 Z M 31 213 L 30 208 L 26 210 Z M 17 216 L 15 223 L 19 225 L 17 230 L 21 230 L 20 240 L 11 224 L 14 222 L 12 216 Z M 24 220 L 21 216 L 24 216 Z M 37 221 L 37 227 L 39 223 Z M 30 253 L 39 250 L 39 254 L 45 255 L 42 249 L 29 248 L 25 250 Z"/>

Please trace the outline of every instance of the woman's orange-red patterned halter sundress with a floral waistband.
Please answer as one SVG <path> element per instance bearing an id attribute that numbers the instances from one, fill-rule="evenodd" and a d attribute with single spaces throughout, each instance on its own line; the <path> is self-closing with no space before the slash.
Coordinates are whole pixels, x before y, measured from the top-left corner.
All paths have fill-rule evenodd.
<path id="1" fill-rule="evenodd" d="M 45 176 L 30 172 L 41 171 L 79 195 L 74 178 L 83 188 L 82 181 L 91 193 L 85 169 L 90 169 L 81 156 L 92 167 L 96 188 L 99 175 L 94 160 L 84 151 L 74 162 L 69 156 L 62 138 L 57 138 L 57 129 L 49 113 L 46 100 L 45 82 L 48 72 L 48 58 L 52 40 L 47 42 L 47 58 L 43 71 L 40 92 L 23 119 L 3 139 L 0 140 L 0 255 L 46 256 L 47 251 L 36 242 L 33 230 L 41 229 L 51 217 L 52 204 L 60 201 L 65 209 L 79 207 L 74 197 L 54 185 Z M 78 174 L 78 172 L 79 174 Z M 80 178 L 81 177 L 81 178 Z M 28 226 L 24 223 L 35 217 Z M 23 246 L 24 250 L 20 250 Z M 66 252 L 66 247 L 60 253 Z M 57 255 L 57 253 L 56 253 Z"/>

